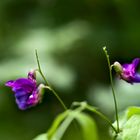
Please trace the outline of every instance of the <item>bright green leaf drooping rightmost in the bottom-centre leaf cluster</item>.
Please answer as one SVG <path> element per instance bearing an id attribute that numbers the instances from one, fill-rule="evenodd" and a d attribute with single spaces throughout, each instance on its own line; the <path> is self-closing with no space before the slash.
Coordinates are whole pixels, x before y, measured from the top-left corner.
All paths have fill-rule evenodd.
<path id="1" fill-rule="evenodd" d="M 81 126 L 84 140 L 98 140 L 95 121 L 85 113 L 79 113 L 75 119 Z"/>

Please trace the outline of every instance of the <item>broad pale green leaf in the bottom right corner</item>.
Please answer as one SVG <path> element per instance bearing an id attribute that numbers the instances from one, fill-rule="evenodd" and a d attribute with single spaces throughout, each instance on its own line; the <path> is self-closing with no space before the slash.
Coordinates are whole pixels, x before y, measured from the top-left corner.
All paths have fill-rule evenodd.
<path id="1" fill-rule="evenodd" d="M 140 139 L 140 108 L 129 107 L 120 118 L 120 130 L 117 140 Z M 116 123 L 116 122 L 115 122 Z"/>

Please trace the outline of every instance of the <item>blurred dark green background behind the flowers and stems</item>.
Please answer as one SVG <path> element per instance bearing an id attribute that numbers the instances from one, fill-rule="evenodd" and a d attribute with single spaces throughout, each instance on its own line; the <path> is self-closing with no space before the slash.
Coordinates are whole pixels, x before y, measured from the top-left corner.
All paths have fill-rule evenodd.
<path id="1" fill-rule="evenodd" d="M 47 91 L 42 104 L 20 111 L 11 89 L 4 86 L 37 68 L 35 49 L 43 72 L 68 107 L 87 100 L 114 120 L 102 47 L 107 46 L 112 63 L 140 57 L 139 7 L 138 0 L 0 1 L 0 139 L 30 140 L 46 132 L 63 111 Z M 117 79 L 115 88 L 120 111 L 140 105 L 139 85 Z M 93 117 L 100 139 L 110 139 L 107 124 Z M 74 134 L 68 133 L 71 139 Z"/>

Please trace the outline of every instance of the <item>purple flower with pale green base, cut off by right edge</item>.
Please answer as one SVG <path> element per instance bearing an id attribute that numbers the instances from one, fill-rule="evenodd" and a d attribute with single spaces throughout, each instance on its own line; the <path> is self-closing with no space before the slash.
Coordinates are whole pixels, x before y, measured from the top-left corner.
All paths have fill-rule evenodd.
<path id="1" fill-rule="evenodd" d="M 123 65 L 121 65 L 119 62 L 115 62 L 113 66 L 121 79 L 131 84 L 140 83 L 140 73 L 138 73 L 140 58 L 135 58 L 132 63 Z"/>

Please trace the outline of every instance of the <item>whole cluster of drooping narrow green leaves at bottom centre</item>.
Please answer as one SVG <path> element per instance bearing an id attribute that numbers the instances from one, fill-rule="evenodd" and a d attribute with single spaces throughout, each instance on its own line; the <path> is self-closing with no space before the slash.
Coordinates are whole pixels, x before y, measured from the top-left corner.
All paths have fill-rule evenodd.
<path id="1" fill-rule="evenodd" d="M 81 131 L 82 140 L 98 140 L 95 121 L 82 111 L 88 107 L 85 102 L 80 107 L 68 110 L 58 115 L 51 128 L 45 134 L 37 136 L 34 140 L 61 140 L 70 124 L 74 121 L 75 133 Z M 92 107 L 93 110 L 95 108 Z M 80 127 L 77 127 L 79 124 Z"/>

